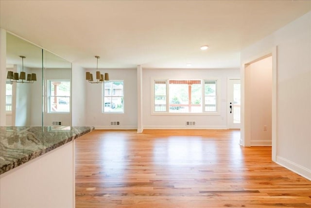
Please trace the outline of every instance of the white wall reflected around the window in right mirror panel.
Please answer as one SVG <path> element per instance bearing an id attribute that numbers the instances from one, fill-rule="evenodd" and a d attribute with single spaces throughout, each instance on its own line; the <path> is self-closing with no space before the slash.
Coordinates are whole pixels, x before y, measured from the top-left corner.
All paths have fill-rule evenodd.
<path id="1" fill-rule="evenodd" d="M 46 69 L 44 71 L 45 80 L 66 79 L 71 81 L 71 69 Z M 47 83 L 45 84 L 48 85 Z M 79 94 L 75 95 L 78 96 Z M 71 102 L 71 99 L 70 99 Z M 71 111 L 70 113 L 48 113 L 48 105 L 44 109 L 43 125 L 52 126 L 52 121 L 61 121 L 62 126 L 71 126 Z"/>

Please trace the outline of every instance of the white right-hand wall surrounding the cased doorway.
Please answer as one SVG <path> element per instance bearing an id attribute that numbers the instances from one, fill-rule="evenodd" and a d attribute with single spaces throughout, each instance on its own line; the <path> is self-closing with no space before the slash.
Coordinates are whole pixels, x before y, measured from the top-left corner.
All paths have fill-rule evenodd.
<path id="1" fill-rule="evenodd" d="M 241 63 L 274 46 L 277 46 L 276 162 L 311 179 L 311 12 L 242 50 Z"/>

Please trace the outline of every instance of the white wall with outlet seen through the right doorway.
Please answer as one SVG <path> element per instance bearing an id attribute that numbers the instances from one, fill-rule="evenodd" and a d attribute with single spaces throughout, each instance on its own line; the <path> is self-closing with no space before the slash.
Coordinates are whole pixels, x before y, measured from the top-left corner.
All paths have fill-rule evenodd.
<path id="1" fill-rule="evenodd" d="M 251 145 L 271 145 L 272 57 L 252 63 L 245 73 L 250 73 Z"/>

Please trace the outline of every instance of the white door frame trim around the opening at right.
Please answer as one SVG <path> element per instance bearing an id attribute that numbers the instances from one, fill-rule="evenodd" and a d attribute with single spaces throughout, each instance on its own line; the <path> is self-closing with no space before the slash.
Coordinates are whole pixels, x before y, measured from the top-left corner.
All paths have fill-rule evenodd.
<path id="1" fill-rule="evenodd" d="M 277 46 L 271 48 L 268 51 L 258 54 L 256 57 L 252 57 L 245 62 L 242 62 L 241 66 L 241 140 L 240 145 L 244 147 L 251 146 L 251 131 L 250 122 L 251 106 L 245 100 L 245 81 L 249 80 L 249 77 L 245 76 L 245 69 L 251 64 L 265 57 L 272 56 L 272 160 L 276 161 L 277 150 Z"/>

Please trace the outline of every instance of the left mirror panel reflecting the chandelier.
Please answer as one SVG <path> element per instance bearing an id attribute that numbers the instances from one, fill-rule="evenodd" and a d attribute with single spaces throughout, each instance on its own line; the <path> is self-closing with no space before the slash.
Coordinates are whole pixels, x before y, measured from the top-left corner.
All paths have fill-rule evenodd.
<path id="1" fill-rule="evenodd" d="M 7 72 L 18 73 L 18 76 L 22 71 L 26 76 L 36 75 L 33 83 L 26 83 L 27 78 L 12 81 L 6 79 L 6 125 L 41 126 L 42 49 L 7 33 L 6 68 Z"/>

